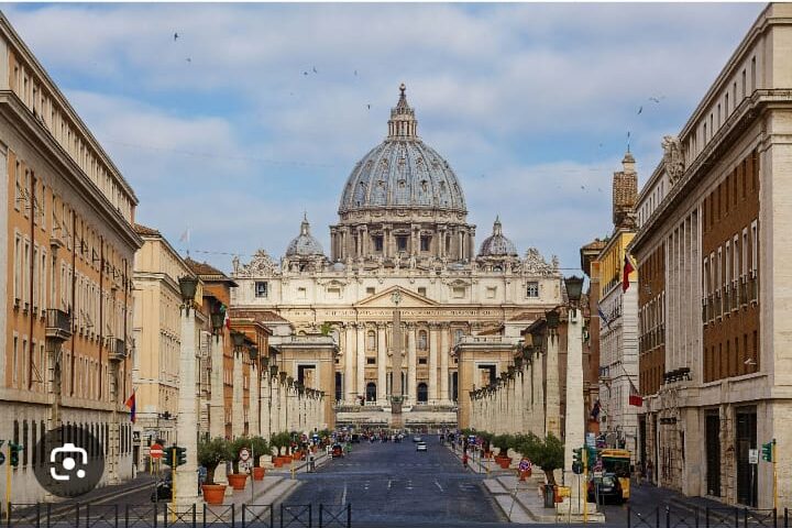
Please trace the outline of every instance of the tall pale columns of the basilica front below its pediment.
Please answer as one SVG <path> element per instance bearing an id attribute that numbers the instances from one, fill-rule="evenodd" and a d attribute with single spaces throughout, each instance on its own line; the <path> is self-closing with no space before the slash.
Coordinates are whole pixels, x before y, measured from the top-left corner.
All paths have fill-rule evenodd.
<path id="1" fill-rule="evenodd" d="M 372 339 L 373 332 L 373 339 Z M 426 333 L 421 333 L 426 332 Z M 407 405 L 417 403 L 419 383 L 427 384 L 427 404 L 451 405 L 451 366 L 453 338 L 448 323 L 406 322 L 402 323 L 406 337 L 406 353 L 403 353 L 402 369 L 406 372 L 404 395 Z M 373 341 L 373 343 L 372 343 Z M 348 322 L 341 328 L 340 343 L 343 352 L 343 398 L 345 405 L 354 405 L 360 397 L 366 397 L 366 385 L 376 384 L 376 404 L 388 400 L 388 373 L 395 371 L 388 358 L 393 353 L 393 323 Z M 372 346 L 373 344 L 373 346 Z M 419 377 L 418 355 L 427 356 L 427 374 Z M 366 356 L 376 358 L 376 376 L 366 378 Z M 421 369 L 422 371 L 422 369 Z"/>

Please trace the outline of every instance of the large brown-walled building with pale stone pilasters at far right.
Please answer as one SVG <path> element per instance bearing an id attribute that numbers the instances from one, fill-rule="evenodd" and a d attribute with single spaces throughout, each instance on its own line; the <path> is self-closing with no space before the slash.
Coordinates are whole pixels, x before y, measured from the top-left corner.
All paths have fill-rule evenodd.
<path id="1" fill-rule="evenodd" d="M 792 446 L 792 6 L 769 4 L 638 197 L 640 450 L 660 485 L 773 507 Z M 792 468 L 778 465 L 779 505 Z"/>

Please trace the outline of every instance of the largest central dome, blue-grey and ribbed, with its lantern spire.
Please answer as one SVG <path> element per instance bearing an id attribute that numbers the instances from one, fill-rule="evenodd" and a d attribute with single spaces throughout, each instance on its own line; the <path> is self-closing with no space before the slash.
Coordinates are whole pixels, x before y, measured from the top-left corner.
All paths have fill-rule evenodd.
<path id="1" fill-rule="evenodd" d="M 429 209 L 466 213 L 457 175 L 418 138 L 418 121 L 405 85 L 391 110 L 388 135 L 358 162 L 346 180 L 339 213 L 360 210 Z"/>

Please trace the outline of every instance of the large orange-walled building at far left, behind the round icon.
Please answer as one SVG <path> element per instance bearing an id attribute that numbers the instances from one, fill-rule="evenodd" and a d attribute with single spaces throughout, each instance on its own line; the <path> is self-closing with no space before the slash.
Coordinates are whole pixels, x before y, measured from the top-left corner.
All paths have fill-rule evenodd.
<path id="1" fill-rule="evenodd" d="M 67 441 L 79 427 L 102 442 L 100 485 L 132 475 L 124 402 L 141 239 L 134 191 L 2 14 L 0 56 L 0 439 L 23 446 L 10 501 L 34 503 L 45 496 L 36 442 L 61 426 Z"/>

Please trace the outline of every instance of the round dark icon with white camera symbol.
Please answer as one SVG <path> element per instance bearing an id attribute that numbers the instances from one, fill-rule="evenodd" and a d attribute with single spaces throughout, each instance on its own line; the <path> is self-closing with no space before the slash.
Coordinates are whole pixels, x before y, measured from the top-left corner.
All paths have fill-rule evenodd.
<path id="1" fill-rule="evenodd" d="M 97 438 L 99 435 L 91 432 L 70 425 L 47 431 L 38 440 L 35 449 L 42 453 L 42 463 L 33 466 L 33 473 L 44 490 L 73 498 L 99 484 L 105 474 L 105 446 Z"/>

